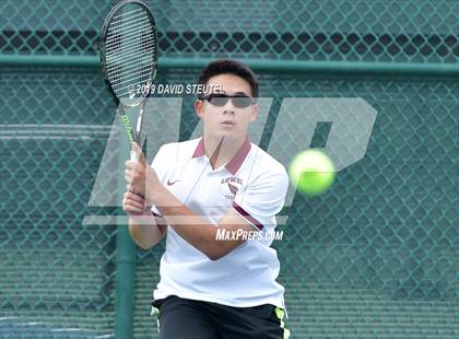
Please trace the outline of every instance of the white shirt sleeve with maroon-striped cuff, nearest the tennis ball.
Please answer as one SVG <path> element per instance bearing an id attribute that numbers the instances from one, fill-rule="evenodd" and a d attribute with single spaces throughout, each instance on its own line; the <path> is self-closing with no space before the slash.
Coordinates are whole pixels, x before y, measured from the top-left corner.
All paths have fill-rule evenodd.
<path id="1" fill-rule="evenodd" d="M 289 188 L 285 170 L 266 173 L 238 191 L 232 208 L 258 231 L 272 231 Z"/>

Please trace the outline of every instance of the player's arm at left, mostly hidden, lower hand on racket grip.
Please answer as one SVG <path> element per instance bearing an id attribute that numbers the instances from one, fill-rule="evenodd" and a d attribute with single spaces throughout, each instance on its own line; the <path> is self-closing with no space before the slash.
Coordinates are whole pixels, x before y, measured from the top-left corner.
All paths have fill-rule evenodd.
<path id="1" fill-rule="evenodd" d="M 166 234 L 167 225 L 153 215 L 145 207 L 143 197 L 131 191 L 125 192 L 122 210 L 129 215 L 129 233 L 137 245 L 143 249 L 156 245 Z"/>

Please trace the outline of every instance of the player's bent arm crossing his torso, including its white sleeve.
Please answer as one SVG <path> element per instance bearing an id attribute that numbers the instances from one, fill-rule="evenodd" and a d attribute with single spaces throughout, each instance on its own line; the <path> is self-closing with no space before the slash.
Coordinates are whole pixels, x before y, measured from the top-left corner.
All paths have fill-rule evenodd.
<path id="1" fill-rule="evenodd" d="M 283 207 L 289 178 L 286 174 L 261 177 L 245 191 L 238 192 L 233 206 L 217 222 L 210 223 L 160 187 L 154 198 L 168 225 L 211 260 L 217 260 L 246 242 L 251 232 L 275 225 L 275 214 Z M 229 239 L 219 237 L 229 234 Z"/>

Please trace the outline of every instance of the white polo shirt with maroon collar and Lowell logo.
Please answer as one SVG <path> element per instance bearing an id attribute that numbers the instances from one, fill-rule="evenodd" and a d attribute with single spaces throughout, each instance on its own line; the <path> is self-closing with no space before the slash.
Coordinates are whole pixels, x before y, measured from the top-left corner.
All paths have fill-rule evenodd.
<path id="1" fill-rule="evenodd" d="M 261 232 L 219 260 L 210 260 L 173 227 L 167 227 L 155 300 L 169 295 L 236 307 L 284 306 L 284 288 L 275 279 L 280 264 L 272 238 L 283 207 L 289 176 L 282 164 L 244 142 L 233 160 L 212 170 L 203 139 L 164 144 L 153 160 L 162 184 L 187 208 L 211 223 L 233 208 Z M 153 213 L 160 211 L 153 207 Z"/>

